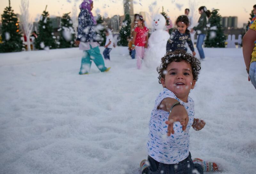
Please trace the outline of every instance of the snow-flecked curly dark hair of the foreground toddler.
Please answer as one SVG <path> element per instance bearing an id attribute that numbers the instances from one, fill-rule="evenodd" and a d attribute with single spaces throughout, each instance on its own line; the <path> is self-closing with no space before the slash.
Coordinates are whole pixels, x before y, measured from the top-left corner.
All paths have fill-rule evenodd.
<path id="1" fill-rule="evenodd" d="M 193 79 L 198 80 L 198 74 L 201 69 L 200 61 L 194 57 L 192 54 L 188 54 L 184 50 L 175 50 L 173 52 L 168 52 L 162 57 L 161 64 L 157 67 L 157 72 L 159 74 L 158 83 L 161 84 L 161 78 L 165 77 L 167 66 L 172 62 L 186 61 L 191 65 Z"/>

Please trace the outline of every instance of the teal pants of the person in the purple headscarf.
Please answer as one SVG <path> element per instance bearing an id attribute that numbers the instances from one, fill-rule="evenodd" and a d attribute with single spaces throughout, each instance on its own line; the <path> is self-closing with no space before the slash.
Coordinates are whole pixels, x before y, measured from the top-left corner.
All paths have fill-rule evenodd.
<path id="1" fill-rule="evenodd" d="M 88 73 L 91 69 L 92 61 L 100 69 L 101 72 L 106 71 L 105 63 L 102 55 L 100 54 L 99 47 L 94 47 L 90 45 L 90 50 L 84 51 L 84 56 L 81 61 L 81 68 L 79 74 Z"/>

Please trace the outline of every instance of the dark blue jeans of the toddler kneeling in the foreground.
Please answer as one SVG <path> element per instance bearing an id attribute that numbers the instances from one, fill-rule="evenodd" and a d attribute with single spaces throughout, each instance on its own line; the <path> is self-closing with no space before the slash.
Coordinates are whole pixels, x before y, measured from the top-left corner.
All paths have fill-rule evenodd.
<path id="1" fill-rule="evenodd" d="M 191 154 L 186 159 L 178 164 L 164 164 L 157 162 L 151 156 L 148 156 L 148 174 L 192 174 L 193 170 L 197 173 L 204 174 L 203 167 L 200 164 L 194 164 L 191 159 Z"/>

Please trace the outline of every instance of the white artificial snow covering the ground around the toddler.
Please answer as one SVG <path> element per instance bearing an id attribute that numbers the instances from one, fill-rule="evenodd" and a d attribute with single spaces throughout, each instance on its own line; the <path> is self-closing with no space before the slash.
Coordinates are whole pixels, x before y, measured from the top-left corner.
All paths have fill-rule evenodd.
<path id="1" fill-rule="evenodd" d="M 103 47 L 100 48 L 103 51 Z M 205 48 L 190 129 L 192 158 L 223 174 L 255 173 L 256 91 L 241 48 Z M 136 68 L 127 47 L 78 75 L 77 48 L 0 54 L 0 173 L 139 174 L 148 121 L 162 90 L 156 71 Z M 198 54 L 197 54 L 198 55 Z"/>

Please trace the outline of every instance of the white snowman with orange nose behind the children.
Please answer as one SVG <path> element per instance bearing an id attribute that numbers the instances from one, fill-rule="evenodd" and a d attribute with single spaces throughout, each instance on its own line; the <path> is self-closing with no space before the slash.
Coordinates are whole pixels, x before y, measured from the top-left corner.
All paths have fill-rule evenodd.
<path id="1" fill-rule="evenodd" d="M 148 49 L 144 56 L 144 62 L 147 67 L 156 68 L 161 63 L 161 58 L 166 53 L 166 43 L 170 38 L 167 31 L 164 30 L 166 20 L 163 15 L 157 14 L 153 18 L 154 32 L 148 39 Z"/>

